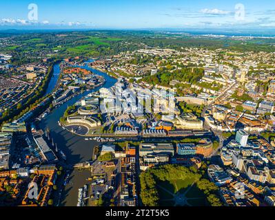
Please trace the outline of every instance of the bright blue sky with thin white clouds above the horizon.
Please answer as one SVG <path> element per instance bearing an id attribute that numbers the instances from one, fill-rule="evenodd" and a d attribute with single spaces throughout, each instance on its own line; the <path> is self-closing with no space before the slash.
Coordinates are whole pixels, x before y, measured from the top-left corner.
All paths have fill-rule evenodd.
<path id="1" fill-rule="evenodd" d="M 37 21 L 28 17 L 30 3 L 38 6 Z M 241 6 L 235 8 L 239 3 Z M 0 25 L 2 28 L 265 29 L 275 28 L 275 1 L 9 0 L 0 2 Z"/>

